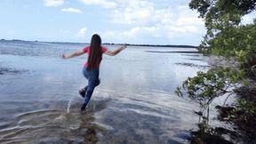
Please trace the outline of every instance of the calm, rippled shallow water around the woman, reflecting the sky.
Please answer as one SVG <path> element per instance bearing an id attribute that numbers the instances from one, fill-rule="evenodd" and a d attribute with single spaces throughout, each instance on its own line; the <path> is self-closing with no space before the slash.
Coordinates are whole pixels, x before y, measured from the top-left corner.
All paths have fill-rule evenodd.
<path id="1" fill-rule="evenodd" d="M 104 144 L 188 143 L 198 105 L 173 92 L 188 76 L 207 70 L 201 54 L 129 46 L 116 57 L 104 55 L 101 83 L 89 114 L 81 116 L 77 91 L 87 83 L 86 56 L 59 55 L 85 45 L 0 41 L 0 143 L 84 143 L 91 127 Z"/>

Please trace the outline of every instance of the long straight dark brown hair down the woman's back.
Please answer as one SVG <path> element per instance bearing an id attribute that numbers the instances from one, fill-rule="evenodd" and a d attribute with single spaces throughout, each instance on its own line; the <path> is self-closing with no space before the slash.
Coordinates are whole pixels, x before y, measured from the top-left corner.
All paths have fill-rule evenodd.
<path id="1" fill-rule="evenodd" d="M 100 61 L 102 59 L 102 52 L 101 49 L 101 39 L 100 36 L 97 34 L 94 34 L 92 36 L 91 40 L 91 46 L 90 46 L 90 54 L 88 57 L 88 66 L 87 70 L 92 70 L 96 67 L 96 65 L 100 64 Z"/>

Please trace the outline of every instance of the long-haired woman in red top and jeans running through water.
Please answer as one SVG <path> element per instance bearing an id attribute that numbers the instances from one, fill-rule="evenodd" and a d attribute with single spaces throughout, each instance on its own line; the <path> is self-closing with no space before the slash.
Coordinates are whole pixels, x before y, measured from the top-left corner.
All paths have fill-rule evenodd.
<path id="1" fill-rule="evenodd" d="M 88 79 L 88 85 L 84 89 L 79 91 L 79 94 L 84 98 L 83 105 L 81 107 L 81 113 L 85 113 L 85 108 L 92 97 L 92 92 L 96 86 L 100 84 L 100 61 L 102 60 L 102 53 L 105 53 L 110 56 L 114 56 L 117 53 L 123 51 L 126 48 L 126 45 L 121 46 L 120 48 L 110 51 L 106 47 L 101 46 L 100 36 L 95 34 L 92 36 L 92 41 L 90 46 L 84 47 L 84 49 L 70 54 L 62 54 L 62 59 L 69 59 L 76 56 L 80 56 L 84 53 L 88 53 L 88 58 L 84 64 L 83 74 L 86 79 Z"/>

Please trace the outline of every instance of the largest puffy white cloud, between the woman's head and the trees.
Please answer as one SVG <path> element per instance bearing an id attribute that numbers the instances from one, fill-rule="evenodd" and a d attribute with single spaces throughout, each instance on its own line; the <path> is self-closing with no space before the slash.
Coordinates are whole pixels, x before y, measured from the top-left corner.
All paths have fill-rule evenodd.
<path id="1" fill-rule="evenodd" d="M 156 8 L 149 1 L 131 0 L 125 7 L 113 10 L 112 19 L 116 23 L 161 23 L 163 25 L 203 25 L 204 21 L 197 18 L 188 6 L 172 6 Z"/>

